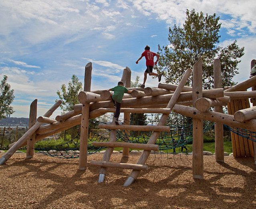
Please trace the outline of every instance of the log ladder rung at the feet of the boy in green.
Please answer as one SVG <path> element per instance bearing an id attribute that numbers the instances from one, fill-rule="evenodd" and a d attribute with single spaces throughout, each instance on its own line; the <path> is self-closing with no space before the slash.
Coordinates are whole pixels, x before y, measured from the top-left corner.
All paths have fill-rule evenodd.
<path id="1" fill-rule="evenodd" d="M 120 129 L 133 131 L 165 131 L 169 132 L 170 127 L 165 125 L 113 125 L 113 124 L 99 124 L 102 129 Z"/>

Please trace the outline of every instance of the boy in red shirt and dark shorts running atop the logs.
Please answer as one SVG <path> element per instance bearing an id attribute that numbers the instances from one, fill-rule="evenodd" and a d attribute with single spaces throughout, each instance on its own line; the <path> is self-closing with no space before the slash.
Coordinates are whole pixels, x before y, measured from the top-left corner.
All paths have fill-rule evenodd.
<path id="1" fill-rule="evenodd" d="M 158 77 L 158 82 L 161 81 L 161 73 L 157 74 L 157 73 L 153 73 L 153 66 L 154 64 L 157 64 L 157 61 L 159 59 L 159 54 L 155 54 L 154 52 L 150 52 L 150 47 L 146 46 L 145 47 L 145 51 L 141 54 L 141 57 L 136 61 L 136 64 L 138 64 L 139 60 L 141 60 L 141 58 L 145 57 L 146 58 L 146 66 L 147 69 L 145 70 L 144 73 L 144 80 L 143 80 L 143 84 L 141 84 L 141 88 L 145 87 L 145 82 L 147 80 L 147 74 L 149 74 L 149 76 L 157 76 Z M 156 62 L 154 63 L 154 56 L 157 57 Z"/>

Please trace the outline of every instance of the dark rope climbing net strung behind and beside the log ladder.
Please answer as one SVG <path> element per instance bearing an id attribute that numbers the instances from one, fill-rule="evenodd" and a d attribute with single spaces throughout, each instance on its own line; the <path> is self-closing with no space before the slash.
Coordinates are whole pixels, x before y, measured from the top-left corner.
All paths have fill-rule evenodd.
<path id="1" fill-rule="evenodd" d="M 161 114 L 147 115 L 144 120 L 131 117 L 131 121 L 124 121 L 125 124 L 132 125 L 157 125 Z M 99 124 L 103 123 L 94 119 L 90 120 L 91 123 Z M 159 150 L 169 150 L 180 147 L 181 151 L 187 149 L 186 147 L 192 146 L 192 118 L 179 115 L 177 113 L 171 113 L 167 123 L 165 125 L 170 126 L 169 132 L 161 132 L 156 144 L 159 145 Z M 214 125 L 213 122 L 204 121 L 204 132 L 208 131 Z M 110 133 L 110 129 L 107 129 Z M 130 143 L 147 143 L 152 131 L 122 131 L 117 130 L 117 141 L 126 141 Z M 92 145 L 93 141 L 106 142 L 109 141 L 109 134 L 103 135 L 94 129 L 91 129 L 88 137 L 88 151 L 87 155 L 96 153 L 106 147 L 95 147 Z M 35 150 L 58 158 L 77 158 L 79 157 L 80 147 L 80 133 L 73 139 L 62 143 L 60 145 L 54 145 L 52 147 L 35 148 Z"/>

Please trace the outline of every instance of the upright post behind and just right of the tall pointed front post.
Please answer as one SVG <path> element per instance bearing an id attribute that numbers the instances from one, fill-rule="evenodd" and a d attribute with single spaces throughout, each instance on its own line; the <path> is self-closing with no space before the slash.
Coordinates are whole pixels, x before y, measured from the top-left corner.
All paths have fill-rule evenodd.
<path id="1" fill-rule="evenodd" d="M 214 60 L 214 88 L 222 87 L 222 77 L 221 77 L 221 65 L 220 59 Z M 216 112 L 223 113 L 222 106 L 215 106 L 214 110 Z M 224 139 L 223 139 L 223 124 L 215 123 L 215 159 L 218 162 L 224 162 Z"/>

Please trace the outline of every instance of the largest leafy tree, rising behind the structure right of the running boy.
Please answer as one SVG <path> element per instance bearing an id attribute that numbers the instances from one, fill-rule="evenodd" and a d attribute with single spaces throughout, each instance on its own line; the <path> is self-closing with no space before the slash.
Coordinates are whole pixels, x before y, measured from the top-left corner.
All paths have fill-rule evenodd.
<path id="1" fill-rule="evenodd" d="M 238 58 L 244 55 L 244 47 L 239 48 L 236 40 L 229 46 L 218 46 L 221 24 L 216 14 L 204 16 L 203 12 L 187 10 L 183 27 L 174 25 L 169 28 L 168 40 L 170 44 L 158 45 L 158 71 L 163 71 L 165 81 L 178 84 L 184 72 L 201 57 L 203 58 L 203 86 L 205 89 L 213 87 L 213 63 L 220 58 L 222 65 L 222 85 L 234 85 L 233 77 L 238 74 Z M 191 77 L 187 83 L 192 84 Z"/>

